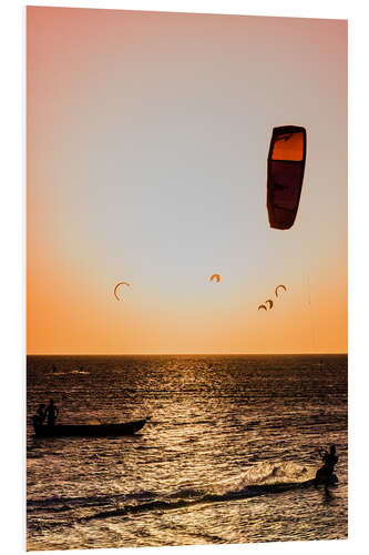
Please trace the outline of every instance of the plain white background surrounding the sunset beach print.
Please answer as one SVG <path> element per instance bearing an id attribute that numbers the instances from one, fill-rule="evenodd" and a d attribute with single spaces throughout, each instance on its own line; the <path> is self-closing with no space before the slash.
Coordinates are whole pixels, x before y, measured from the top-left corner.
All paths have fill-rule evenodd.
<path id="1" fill-rule="evenodd" d="M 363 553 L 367 544 L 368 440 L 365 413 L 368 391 L 367 322 L 368 171 L 368 8 L 339 0 L 105 0 L 33 1 L 32 6 L 115 8 L 197 13 L 285 16 L 349 20 L 349 539 L 243 545 L 145 548 L 161 553 L 300 554 Z M 1 548 L 25 551 L 25 9 L 20 0 L 1 3 Z M 362 434 L 362 435 L 361 435 Z M 23 446 L 23 447 L 22 447 Z M 165 549 L 165 551 L 163 551 Z M 125 549 L 127 555 L 136 551 Z M 45 552 L 32 552 L 45 553 Z M 65 552 L 53 552 L 65 553 Z M 114 549 L 73 553 L 110 555 Z"/>

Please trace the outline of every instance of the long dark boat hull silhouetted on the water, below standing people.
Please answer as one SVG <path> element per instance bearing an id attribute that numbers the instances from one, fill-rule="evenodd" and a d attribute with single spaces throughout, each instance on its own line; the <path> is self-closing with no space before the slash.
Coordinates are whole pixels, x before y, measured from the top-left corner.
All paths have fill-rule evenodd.
<path id="1" fill-rule="evenodd" d="M 55 424 L 54 426 L 33 424 L 33 428 L 37 437 L 112 437 L 133 435 L 145 425 L 147 420 L 136 420 L 123 424 Z"/>

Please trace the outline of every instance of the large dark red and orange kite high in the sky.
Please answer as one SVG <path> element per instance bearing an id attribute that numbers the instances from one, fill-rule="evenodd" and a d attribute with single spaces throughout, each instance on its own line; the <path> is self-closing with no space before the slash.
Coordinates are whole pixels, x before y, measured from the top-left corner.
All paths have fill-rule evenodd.
<path id="1" fill-rule="evenodd" d="M 306 130 L 274 128 L 268 154 L 267 209 L 270 228 L 294 225 L 300 201 L 306 160 Z"/>

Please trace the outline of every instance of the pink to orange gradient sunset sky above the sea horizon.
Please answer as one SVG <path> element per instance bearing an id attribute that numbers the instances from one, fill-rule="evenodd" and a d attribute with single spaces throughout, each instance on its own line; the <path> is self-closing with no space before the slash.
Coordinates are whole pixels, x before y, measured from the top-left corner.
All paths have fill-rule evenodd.
<path id="1" fill-rule="evenodd" d="M 27 49 L 29 353 L 347 351 L 347 21 L 28 7 Z"/>

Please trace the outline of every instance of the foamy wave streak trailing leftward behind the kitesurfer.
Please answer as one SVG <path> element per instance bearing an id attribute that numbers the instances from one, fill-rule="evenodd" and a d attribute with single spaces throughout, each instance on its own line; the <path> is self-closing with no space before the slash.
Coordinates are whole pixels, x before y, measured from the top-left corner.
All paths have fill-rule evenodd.
<path id="1" fill-rule="evenodd" d="M 29 500 L 28 512 L 35 513 L 41 509 L 50 514 L 70 509 L 72 519 L 83 523 L 145 512 L 166 512 L 194 505 L 242 501 L 289 490 L 307 488 L 314 486 L 315 474 L 315 468 L 306 468 L 293 463 L 283 465 L 264 463 L 253 466 L 239 476 L 221 481 L 205 488 L 188 486 L 165 494 L 147 490 L 117 495 Z M 80 509 L 82 509 L 82 515 Z M 90 514 L 86 515 L 85 509 Z"/>

